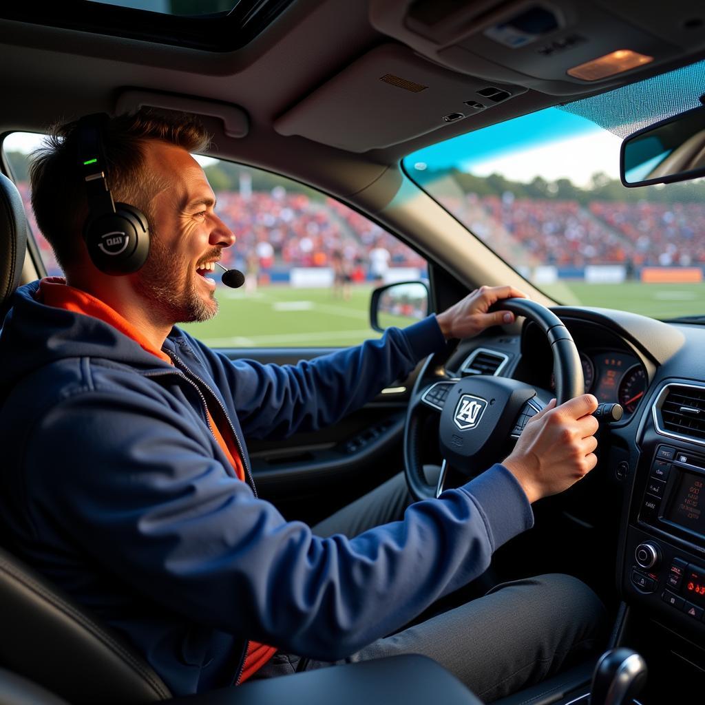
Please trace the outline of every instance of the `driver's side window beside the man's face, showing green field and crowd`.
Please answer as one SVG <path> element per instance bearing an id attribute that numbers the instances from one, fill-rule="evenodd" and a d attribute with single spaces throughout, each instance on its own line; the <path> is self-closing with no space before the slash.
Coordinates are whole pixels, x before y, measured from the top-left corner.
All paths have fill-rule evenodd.
<path id="1" fill-rule="evenodd" d="M 51 275 L 61 274 L 32 216 L 28 156 L 39 135 L 4 141 Z M 377 336 L 369 299 L 381 283 L 425 278 L 426 262 L 376 223 L 296 181 L 240 164 L 197 157 L 216 193 L 216 212 L 237 238 L 223 264 L 245 273 L 245 285 L 219 283 L 219 314 L 184 327 L 214 348 L 338 347 Z M 214 274 L 220 281 L 219 274 Z"/>

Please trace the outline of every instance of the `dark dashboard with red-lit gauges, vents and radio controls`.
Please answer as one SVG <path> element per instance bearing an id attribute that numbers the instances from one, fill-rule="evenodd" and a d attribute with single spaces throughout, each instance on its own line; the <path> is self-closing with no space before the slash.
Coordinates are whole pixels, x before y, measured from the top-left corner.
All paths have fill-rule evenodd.
<path id="1" fill-rule="evenodd" d="M 587 485 L 580 483 L 570 507 L 580 521 L 587 516 L 580 512 L 594 505 L 582 521 L 587 526 L 615 500 L 611 506 L 618 516 L 611 533 L 594 546 L 616 547 L 613 584 L 627 615 L 621 643 L 649 653 L 651 663 L 669 663 L 668 668 L 666 659 L 680 651 L 697 664 L 700 678 L 705 673 L 705 326 L 666 324 L 609 309 L 553 312 L 575 341 L 586 391 L 625 411 L 620 421 L 601 429 L 601 455 L 593 471 L 599 489 L 587 496 Z M 463 341 L 457 355 L 462 372 L 472 372 L 476 358 L 487 367 L 497 355 L 496 374 L 531 384 L 544 398 L 555 388 L 551 348 L 534 324 L 522 326 L 520 334 Z"/>

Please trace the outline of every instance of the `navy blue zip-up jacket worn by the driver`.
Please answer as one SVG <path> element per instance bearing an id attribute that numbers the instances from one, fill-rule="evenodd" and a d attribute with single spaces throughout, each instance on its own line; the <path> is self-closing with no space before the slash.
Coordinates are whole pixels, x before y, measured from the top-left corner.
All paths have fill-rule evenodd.
<path id="1" fill-rule="evenodd" d="M 495 465 L 403 521 L 321 539 L 235 478 L 205 400 L 244 436 L 336 422 L 443 345 L 434 317 L 278 367 L 174 328 L 161 362 L 18 290 L 0 333 L 0 520 L 11 547 L 127 637 L 174 694 L 235 682 L 247 639 L 332 661 L 388 635 L 532 525 Z M 227 419 L 227 420 L 226 420 Z"/>

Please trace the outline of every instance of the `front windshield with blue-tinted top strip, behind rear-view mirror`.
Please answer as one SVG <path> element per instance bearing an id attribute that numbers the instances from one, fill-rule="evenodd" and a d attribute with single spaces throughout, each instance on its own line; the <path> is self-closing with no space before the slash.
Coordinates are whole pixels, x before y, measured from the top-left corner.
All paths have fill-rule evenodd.
<path id="1" fill-rule="evenodd" d="M 704 92 L 701 62 L 460 135 L 403 166 L 560 303 L 705 314 L 705 179 L 625 188 L 619 173 L 624 137 Z"/>

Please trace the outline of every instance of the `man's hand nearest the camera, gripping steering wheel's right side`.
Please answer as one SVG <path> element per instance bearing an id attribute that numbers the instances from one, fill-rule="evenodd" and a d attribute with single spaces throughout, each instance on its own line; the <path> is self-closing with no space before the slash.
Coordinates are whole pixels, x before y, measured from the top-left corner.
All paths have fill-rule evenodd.
<path id="1" fill-rule="evenodd" d="M 529 419 L 504 461 L 529 502 L 563 492 L 595 467 L 599 424 L 591 414 L 596 408 L 596 398 L 583 394 L 560 406 L 553 399 Z"/>

